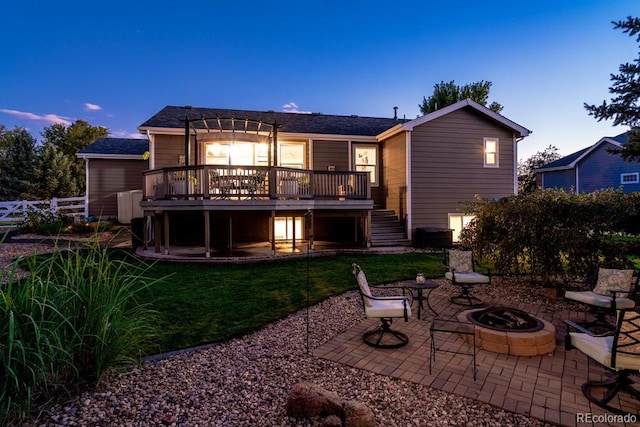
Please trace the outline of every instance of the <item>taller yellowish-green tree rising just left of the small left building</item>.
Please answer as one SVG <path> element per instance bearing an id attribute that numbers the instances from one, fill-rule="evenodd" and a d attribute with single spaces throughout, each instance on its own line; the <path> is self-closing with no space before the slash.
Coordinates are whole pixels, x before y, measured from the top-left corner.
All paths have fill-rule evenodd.
<path id="1" fill-rule="evenodd" d="M 44 129 L 43 142 L 57 147 L 58 151 L 69 160 L 69 174 L 72 186 L 76 188 L 74 196 L 85 193 L 84 161 L 76 157 L 76 153 L 98 138 L 108 136 L 109 131 L 103 126 L 91 126 L 84 120 L 76 120 L 71 126 L 54 124 Z"/>

